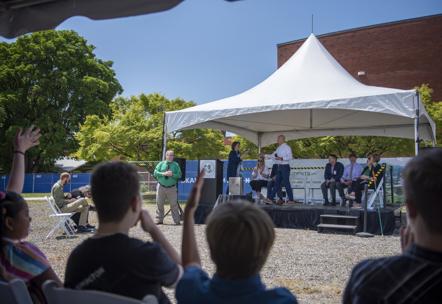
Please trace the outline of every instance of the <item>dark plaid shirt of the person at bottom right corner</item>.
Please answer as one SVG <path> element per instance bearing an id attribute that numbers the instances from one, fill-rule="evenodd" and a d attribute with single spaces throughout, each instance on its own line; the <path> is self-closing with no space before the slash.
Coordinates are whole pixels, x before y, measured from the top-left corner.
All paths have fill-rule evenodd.
<path id="1" fill-rule="evenodd" d="M 343 304 L 441 301 L 442 253 L 415 244 L 404 255 L 360 262 L 343 297 Z"/>

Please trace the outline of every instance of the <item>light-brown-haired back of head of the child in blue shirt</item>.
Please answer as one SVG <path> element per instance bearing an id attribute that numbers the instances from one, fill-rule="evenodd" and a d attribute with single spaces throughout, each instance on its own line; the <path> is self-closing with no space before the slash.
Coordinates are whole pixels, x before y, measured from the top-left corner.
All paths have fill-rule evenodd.
<path id="1" fill-rule="evenodd" d="M 221 279 L 258 275 L 275 241 L 269 215 L 250 202 L 226 202 L 207 220 L 207 241 Z"/>

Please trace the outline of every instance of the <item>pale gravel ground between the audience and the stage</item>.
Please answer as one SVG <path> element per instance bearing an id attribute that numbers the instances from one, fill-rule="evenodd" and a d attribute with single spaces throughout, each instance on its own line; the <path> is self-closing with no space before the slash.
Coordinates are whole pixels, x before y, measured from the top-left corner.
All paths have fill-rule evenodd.
<path id="1" fill-rule="evenodd" d="M 52 264 L 58 277 L 63 281 L 66 262 L 71 251 L 90 235 L 77 234 L 68 238 L 61 228 L 47 240 L 46 235 L 56 225 L 49 218 L 51 211 L 46 202 L 28 202 L 32 217 L 32 232 L 26 240 L 35 243 Z M 154 205 L 144 205 L 152 218 Z M 165 206 L 166 211 L 168 206 Z M 89 222 L 98 225 L 95 212 L 89 212 Z M 171 216 L 161 225 L 167 240 L 181 252 L 183 226 L 173 224 Z M 406 223 L 402 212 L 402 226 Z M 267 288 L 283 286 L 289 289 L 301 303 L 341 303 L 345 285 L 352 268 L 366 258 L 378 258 L 401 253 L 399 220 L 395 233 L 391 236 L 359 238 L 351 233 L 276 228 L 276 241 L 265 263 L 261 278 Z M 209 276 L 215 272 L 215 264 L 210 259 L 209 247 L 205 239 L 205 225 L 195 225 L 195 234 L 202 268 Z M 129 235 L 140 240 L 151 240 L 139 226 L 130 230 Z M 176 303 L 174 290 L 164 288 L 172 303 Z"/>

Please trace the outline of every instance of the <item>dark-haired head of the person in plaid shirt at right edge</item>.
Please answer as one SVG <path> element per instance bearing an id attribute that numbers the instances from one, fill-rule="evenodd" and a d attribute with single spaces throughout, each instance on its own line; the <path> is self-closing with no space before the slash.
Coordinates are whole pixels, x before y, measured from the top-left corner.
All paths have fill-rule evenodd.
<path id="1" fill-rule="evenodd" d="M 413 204 L 429 232 L 442 234 L 442 149 L 429 149 L 414 157 L 402 171 L 406 203 Z M 409 210 L 407 210 L 408 213 Z"/>

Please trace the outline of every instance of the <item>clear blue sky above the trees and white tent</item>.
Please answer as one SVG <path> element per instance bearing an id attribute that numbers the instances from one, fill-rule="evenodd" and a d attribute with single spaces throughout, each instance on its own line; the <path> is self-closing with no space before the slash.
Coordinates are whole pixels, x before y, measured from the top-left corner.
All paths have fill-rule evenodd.
<path id="1" fill-rule="evenodd" d="M 202 104 L 272 75 L 276 44 L 308 37 L 312 14 L 320 35 L 440 13 L 441 0 L 185 0 L 143 16 L 72 17 L 57 29 L 75 30 L 114 62 L 123 96 L 161 92 Z"/>

